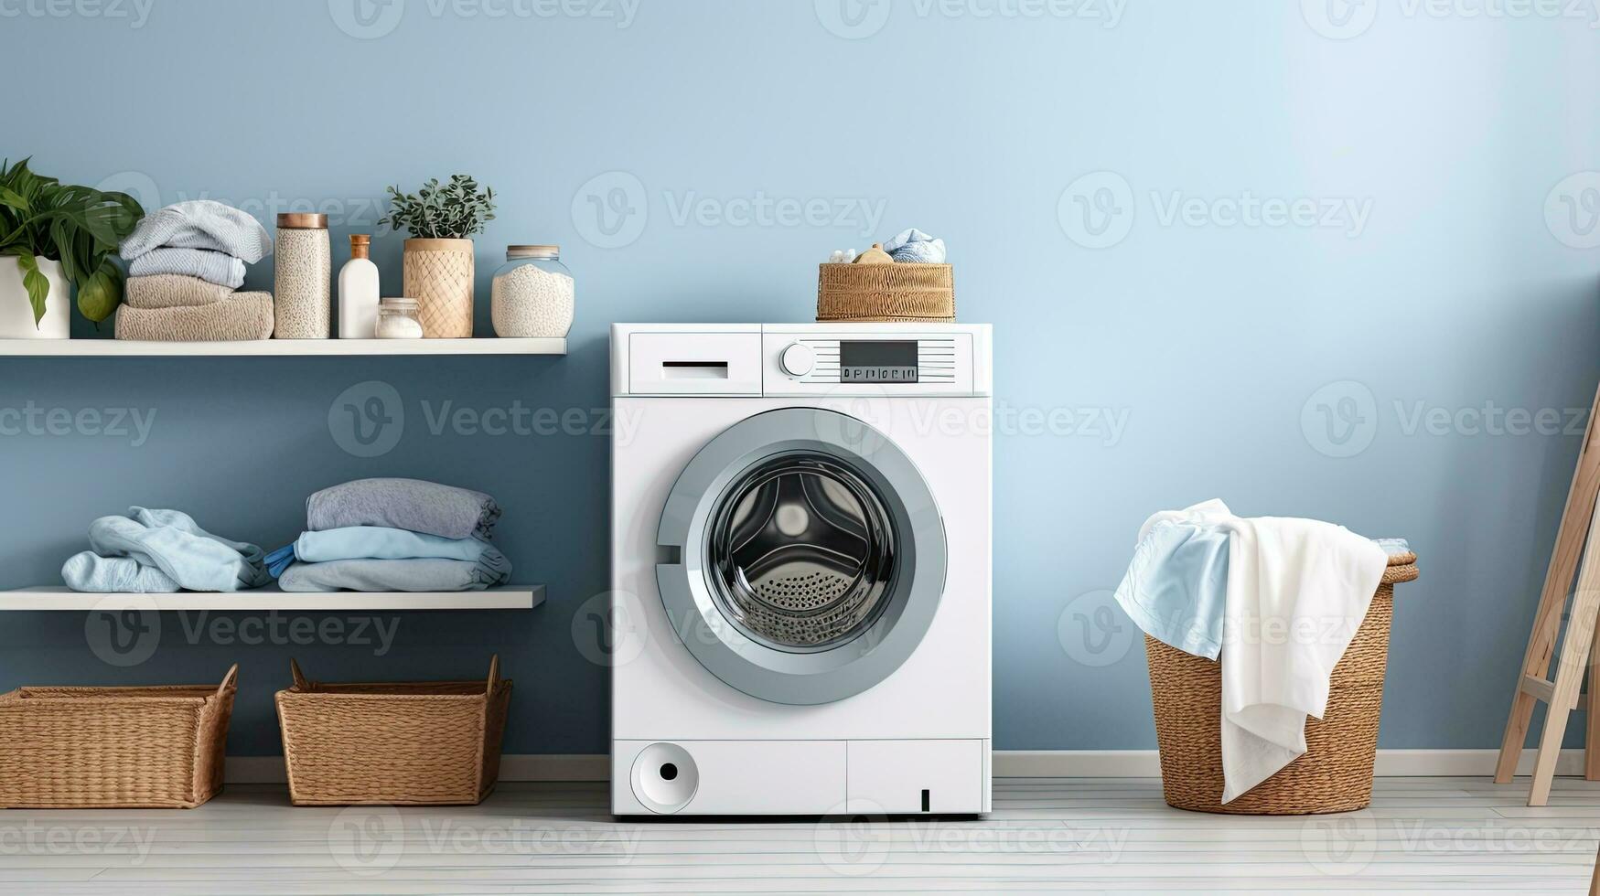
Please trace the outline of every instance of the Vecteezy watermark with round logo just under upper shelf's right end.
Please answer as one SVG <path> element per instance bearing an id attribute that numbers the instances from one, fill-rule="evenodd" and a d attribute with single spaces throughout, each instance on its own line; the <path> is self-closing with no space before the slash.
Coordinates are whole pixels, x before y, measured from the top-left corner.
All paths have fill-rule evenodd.
<path id="1" fill-rule="evenodd" d="M 611 408 L 549 408 L 525 405 L 520 398 L 509 405 L 474 406 L 454 398 L 418 402 L 424 432 L 430 437 L 547 438 L 555 435 L 616 435 L 618 445 L 629 445 L 638 432 L 643 408 L 613 413 Z M 379 458 L 400 445 L 408 413 L 400 392 L 381 381 L 368 379 L 339 392 L 328 405 L 328 435 L 333 443 L 357 458 Z"/>

